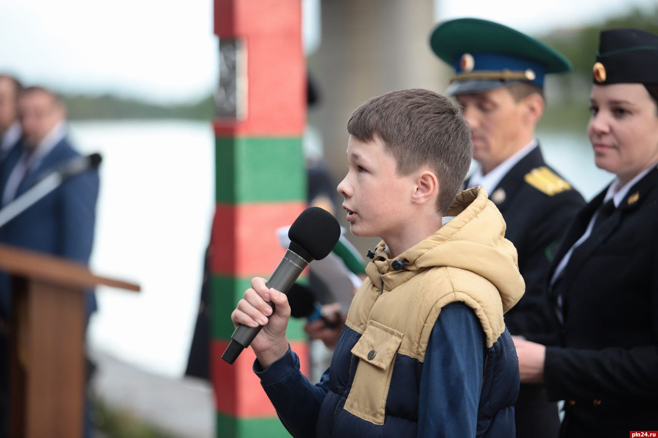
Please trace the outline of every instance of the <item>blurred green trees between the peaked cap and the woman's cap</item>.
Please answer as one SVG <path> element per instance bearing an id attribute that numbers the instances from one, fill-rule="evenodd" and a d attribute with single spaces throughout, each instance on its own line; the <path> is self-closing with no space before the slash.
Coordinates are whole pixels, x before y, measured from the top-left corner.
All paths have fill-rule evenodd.
<path id="1" fill-rule="evenodd" d="M 609 28 L 638 28 L 658 34 L 658 6 L 631 9 L 625 14 L 578 28 L 557 29 L 539 39 L 563 53 L 573 72 L 550 79 L 547 107 L 540 122 L 544 130 L 584 131 L 592 88 L 592 66 L 599 46 L 599 32 Z"/>

